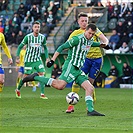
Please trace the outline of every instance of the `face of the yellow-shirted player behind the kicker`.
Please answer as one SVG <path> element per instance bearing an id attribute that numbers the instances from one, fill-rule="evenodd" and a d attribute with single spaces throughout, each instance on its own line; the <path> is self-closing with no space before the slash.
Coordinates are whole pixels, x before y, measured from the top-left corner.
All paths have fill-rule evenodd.
<path id="1" fill-rule="evenodd" d="M 88 17 L 80 17 L 78 19 L 78 24 L 79 24 L 81 29 L 85 30 L 86 26 L 88 24 Z"/>

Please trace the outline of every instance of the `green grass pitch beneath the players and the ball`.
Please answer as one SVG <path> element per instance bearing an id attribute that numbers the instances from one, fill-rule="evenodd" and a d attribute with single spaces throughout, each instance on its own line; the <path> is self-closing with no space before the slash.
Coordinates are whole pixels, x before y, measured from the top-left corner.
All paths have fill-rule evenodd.
<path id="1" fill-rule="evenodd" d="M 21 90 L 21 99 L 15 98 L 13 87 L 5 87 L 0 94 L 0 133 L 131 133 L 133 132 L 133 106 L 131 89 L 96 89 L 95 110 L 105 117 L 86 115 L 84 90 L 75 112 L 66 114 L 62 91 L 46 88 L 48 100 L 40 99 L 40 90 Z"/>

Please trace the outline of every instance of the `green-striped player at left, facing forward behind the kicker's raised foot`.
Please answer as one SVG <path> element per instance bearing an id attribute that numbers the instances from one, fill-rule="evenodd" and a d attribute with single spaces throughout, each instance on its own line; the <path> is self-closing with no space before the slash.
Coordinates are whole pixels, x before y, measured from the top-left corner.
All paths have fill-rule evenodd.
<path id="1" fill-rule="evenodd" d="M 32 74 L 36 71 L 40 76 L 44 76 L 44 65 L 41 59 L 42 49 L 44 48 L 44 54 L 46 57 L 46 63 L 49 61 L 48 58 L 48 49 L 46 46 L 46 38 L 40 32 L 40 22 L 35 21 L 32 25 L 32 33 L 27 34 L 17 49 L 16 63 L 20 62 L 20 51 L 26 45 L 26 53 L 24 59 L 24 77 Z M 21 79 L 18 87 L 16 88 L 16 97 L 21 98 L 20 89 L 23 86 L 24 82 Z M 40 83 L 41 95 L 40 98 L 48 99 L 44 95 L 44 84 Z"/>

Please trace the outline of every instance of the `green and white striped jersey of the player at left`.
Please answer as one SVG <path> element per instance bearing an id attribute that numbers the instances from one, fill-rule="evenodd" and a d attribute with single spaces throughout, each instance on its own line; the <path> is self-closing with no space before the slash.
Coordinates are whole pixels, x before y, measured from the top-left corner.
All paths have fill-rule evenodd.
<path id="1" fill-rule="evenodd" d="M 43 48 L 47 49 L 46 38 L 40 33 L 37 37 L 33 33 L 27 34 L 18 47 L 17 56 L 19 56 L 24 45 L 27 45 L 24 62 L 40 61 Z"/>

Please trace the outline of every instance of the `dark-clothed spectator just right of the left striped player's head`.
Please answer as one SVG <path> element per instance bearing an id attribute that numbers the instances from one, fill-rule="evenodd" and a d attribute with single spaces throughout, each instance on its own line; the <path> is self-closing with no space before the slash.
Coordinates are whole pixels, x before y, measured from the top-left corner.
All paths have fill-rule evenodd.
<path id="1" fill-rule="evenodd" d="M 49 35 L 49 27 L 47 26 L 46 22 L 43 21 L 42 22 L 42 26 L 41 26 L 41 30 L 40 30 L 40 33 L 42 33 L 46 38 L 48 37 Z"/>

